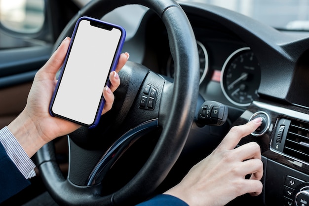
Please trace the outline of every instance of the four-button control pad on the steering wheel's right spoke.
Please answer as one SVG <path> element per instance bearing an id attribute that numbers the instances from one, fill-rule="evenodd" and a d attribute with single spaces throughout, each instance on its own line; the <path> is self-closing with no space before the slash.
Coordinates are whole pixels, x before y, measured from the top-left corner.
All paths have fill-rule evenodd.
<path id="1" fill-rule="evenodd" d="M 140 108 L 153 110 L 157 97 L 157 91 L 158 90 L 154 88 L 154 86 L 147 84 L 140 99 Z"/>

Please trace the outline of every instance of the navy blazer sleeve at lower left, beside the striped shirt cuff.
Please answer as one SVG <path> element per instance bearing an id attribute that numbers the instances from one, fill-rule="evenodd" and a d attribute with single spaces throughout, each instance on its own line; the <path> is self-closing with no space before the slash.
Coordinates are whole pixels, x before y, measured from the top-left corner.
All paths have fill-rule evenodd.
<path id="1" fill-rule="evenodd" d="M 0 203 L 28 185 L 30 181 L 17 169 L 0 143 Z"/>

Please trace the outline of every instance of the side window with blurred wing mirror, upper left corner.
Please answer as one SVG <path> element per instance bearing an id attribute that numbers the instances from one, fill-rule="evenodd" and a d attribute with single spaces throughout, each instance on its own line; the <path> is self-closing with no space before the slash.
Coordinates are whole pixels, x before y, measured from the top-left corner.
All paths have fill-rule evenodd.
<path id="1" fill-rule="evenodd" d="M 44 2 L 0 0 L 0 49 L 33 46 L 47 40 Z"/>

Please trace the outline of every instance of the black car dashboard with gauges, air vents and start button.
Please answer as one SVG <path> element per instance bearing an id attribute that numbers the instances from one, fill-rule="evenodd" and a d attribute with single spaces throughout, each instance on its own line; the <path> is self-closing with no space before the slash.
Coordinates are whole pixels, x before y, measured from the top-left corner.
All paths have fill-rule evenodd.
<path id="1" fill-rule="evenodd" d="M 229 107 L 228 128 L 220 133 L 222 128 L 207 127 L 198 134 L 193 125 L 189 140 L 199 136 L 204 144 L 218 143 L 232 126 L 263 117 L 264 128 L 239 142 L 255 141 L 261 147 L 264 189 L 257 205 L 301 206 L 302 197 L 309 200 L 309 34 L 287 34 L 216 6 L 181 5 L 198 47 L 200 97 Z M 172 81 L 177 65 L 154 13 L 143 16 L 127 51 L 130 45 L 140 46 L 130 52 L 133 59 Z M 211 152 L 207 149 L 204 155 Z"/>

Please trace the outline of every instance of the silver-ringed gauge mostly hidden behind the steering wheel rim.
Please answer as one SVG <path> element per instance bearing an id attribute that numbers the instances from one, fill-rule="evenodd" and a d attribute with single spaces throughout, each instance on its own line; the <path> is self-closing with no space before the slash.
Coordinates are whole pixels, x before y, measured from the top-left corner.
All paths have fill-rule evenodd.
<path id="1" fill-rule="evenodd" d="M 199 42 L 196 41 L 197 43 L 197 50 L 198 50 L 198 56 L 199 56 L 199 84 L 204 80 L 207 70 L 208 70 L 208 53 L 205 48 L 205 46 Z M 167 61 L 167 67 L 166 67 L 166 72 L 169 77 L 174 78 L 174 61 L 172 59 L 172 56 L 169 57 Z"/>

